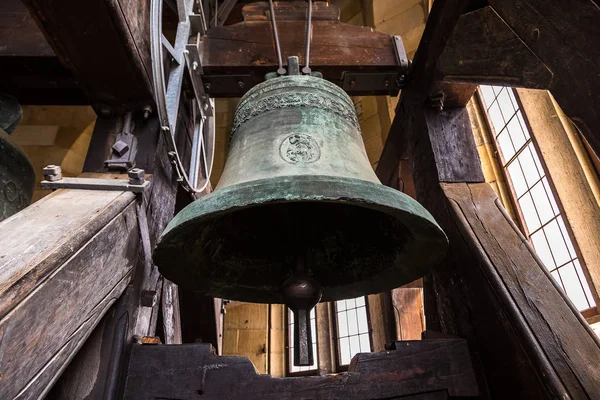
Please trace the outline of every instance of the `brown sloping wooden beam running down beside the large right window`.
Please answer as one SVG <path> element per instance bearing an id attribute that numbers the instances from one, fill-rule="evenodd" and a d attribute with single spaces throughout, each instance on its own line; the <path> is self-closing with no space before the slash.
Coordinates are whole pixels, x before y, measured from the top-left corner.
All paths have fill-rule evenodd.
<path id="1" fill-rule="evenodd" d="M 442 184 L 459 230 L 550 390 L 600 393 L 600 342 L 486 184 Z M 576 337 L 577 340 L 573 340 Z M 564 385 L 564 388 L 561 387 Z M 555 387 L 552 387 L 555 386 Z M 556 393 L 556 392 L 555 392 Z"/>

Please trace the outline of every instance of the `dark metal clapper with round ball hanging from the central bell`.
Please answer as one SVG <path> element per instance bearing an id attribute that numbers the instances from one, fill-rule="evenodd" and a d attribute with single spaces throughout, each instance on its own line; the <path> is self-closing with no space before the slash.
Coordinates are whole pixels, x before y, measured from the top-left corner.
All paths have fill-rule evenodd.
<path id="1" fill-rule="evenodd" d="M 310 312 L 321 300 L 323 290 L 299 259 L 296 270 L 281 285 L 281 291 L 285 304 L 294 313 L 294 365 L 310 366 L 314 363 Z"/>

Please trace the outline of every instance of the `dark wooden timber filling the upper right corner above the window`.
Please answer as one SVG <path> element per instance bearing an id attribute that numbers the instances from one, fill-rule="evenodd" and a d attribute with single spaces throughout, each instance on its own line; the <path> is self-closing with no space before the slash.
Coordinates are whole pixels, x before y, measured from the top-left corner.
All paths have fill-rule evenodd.
<path id="1" fill-rule="evenodd" d="M 600 154 L 598 2 L 490 0 L 489 5 L 552 71 L 554 98 Z"/>

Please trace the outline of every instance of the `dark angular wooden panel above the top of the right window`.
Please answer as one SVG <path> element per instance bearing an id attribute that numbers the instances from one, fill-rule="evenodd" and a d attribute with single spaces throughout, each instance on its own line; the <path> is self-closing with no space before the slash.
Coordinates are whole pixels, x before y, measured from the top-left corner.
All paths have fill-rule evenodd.
<path id="1" fill-rule="evenodd" d="M 438 79 L 548 88 L 552 72 L 491 7 L 463 14 L 437 66 Z"/>

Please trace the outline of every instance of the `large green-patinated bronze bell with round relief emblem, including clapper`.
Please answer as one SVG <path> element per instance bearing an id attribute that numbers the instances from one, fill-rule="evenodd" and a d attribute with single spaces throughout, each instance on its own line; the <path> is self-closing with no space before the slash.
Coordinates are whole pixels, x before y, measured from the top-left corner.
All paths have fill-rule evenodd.
<path id="1" fill-rule="evenodd" d="M 204 294 L 288 304 L 302 329 L 319 300 L 399 287 L 446 248 L 427 210 L 377 179 L 348 95 L 289 75 L 241 99 L 218 186 L 169 223 L 154 261 Z M 296 350 L 310 353 L 307 335 L 297 332 L 305 343 Z M 312 363 L 311 354 L 295 359 Z"/>

